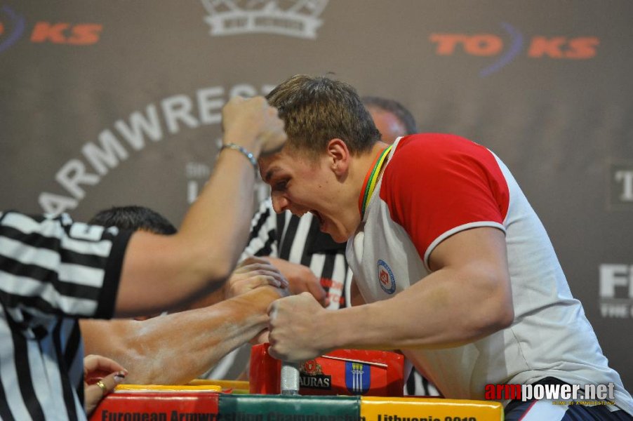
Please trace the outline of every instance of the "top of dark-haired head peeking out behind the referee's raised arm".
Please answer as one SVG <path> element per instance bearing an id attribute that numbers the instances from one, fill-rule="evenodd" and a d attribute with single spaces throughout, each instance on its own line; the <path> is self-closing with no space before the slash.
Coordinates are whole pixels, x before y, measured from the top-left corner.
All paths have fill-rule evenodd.
<path id="1" fill-rule="evenodd" d="M 88 224 L 154 234 L 175 234 L 177 231 L 163 215 L 144 206 L 114 206 L 101 210 Z"/>

